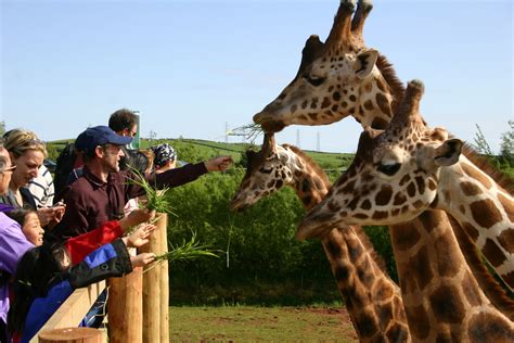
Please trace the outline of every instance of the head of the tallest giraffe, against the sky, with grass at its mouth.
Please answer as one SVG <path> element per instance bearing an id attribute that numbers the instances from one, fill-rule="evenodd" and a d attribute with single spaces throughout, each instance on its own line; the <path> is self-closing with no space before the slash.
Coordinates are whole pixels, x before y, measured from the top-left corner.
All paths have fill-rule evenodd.
<path id="1" fill-rule="evenodd" d="M 352 20 L 355 0 L 342 0 L 326 41 L 307 39 L 296 77 L 254 122 L 274 132 L 291 124 L 325 125 L 354 116 L 363 126 L 385 128 L 394 97 L 377 67 L 387 62 L 364 47 L 362 30 L 371 9 L 371 1 L 359 1 Z"/>

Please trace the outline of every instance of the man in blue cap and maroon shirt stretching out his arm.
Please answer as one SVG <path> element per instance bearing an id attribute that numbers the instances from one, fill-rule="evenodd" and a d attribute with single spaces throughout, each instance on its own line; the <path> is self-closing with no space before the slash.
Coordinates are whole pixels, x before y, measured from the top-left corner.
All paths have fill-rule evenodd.
<path id="1" fill-rule="evenodd" d="M 129 182 L 134 178 L 132 172 L 119 169 L 121 147 L 131 141 L 132 137 L 119 136 L 107 126 L 90 127 L 77 137 L 76 147 L 82 152 L 85 163 L 83 176 L 64 190 L 66 213 L 48 239 L 62 242 L 102 223 L 120 219 L 127 201 L 144 194 L 143 188 Z M 230 156 L 219 156 L 145 178 L 157 189 L 172 188 L 208 172 L 224 170 L 231 163 Z"/>

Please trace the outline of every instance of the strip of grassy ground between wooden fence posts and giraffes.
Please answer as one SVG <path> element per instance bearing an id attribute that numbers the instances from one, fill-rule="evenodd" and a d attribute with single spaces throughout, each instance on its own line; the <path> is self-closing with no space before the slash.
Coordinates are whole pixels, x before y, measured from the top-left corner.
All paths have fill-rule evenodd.
<path id="1" fill-rule="evenodd" d="M 358 342 L 342 307 L 170 307 L 172 342 Z"/>

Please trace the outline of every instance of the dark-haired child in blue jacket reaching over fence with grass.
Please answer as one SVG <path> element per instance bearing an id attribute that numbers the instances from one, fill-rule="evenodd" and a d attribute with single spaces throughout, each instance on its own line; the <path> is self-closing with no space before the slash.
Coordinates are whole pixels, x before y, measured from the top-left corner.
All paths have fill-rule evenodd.
<path id="1" fill-rule="evenodd" d="M 147 243 L 154 229 L 153 225 L 142 225 L 130 236 L 100 246 L 73 267 L 73 258 L 65 246 L 43 244 L 27 251 L 16 268 L 14 302 L 8 316 L 9 331 L 21 342 L 29 342 L 76 289 L 120 277 L 133 267 L 152 263 L 155 254 L 130 256 L 127 246 L 139 247 Z"/>

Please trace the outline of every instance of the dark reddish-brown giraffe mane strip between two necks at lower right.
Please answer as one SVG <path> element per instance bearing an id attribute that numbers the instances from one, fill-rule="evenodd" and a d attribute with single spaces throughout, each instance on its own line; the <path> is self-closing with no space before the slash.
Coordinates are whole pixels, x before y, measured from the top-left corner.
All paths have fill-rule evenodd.
<path id="1" fill-rule="evenodd" d="M 471 271 L 475 276 L 479 287 L 501 313 L 514 320 L 514 300 L 509 296 L 505 289 L 503 289 L 494 277 L 489 272 L 486 265 L 481 261 L 481 255 L 478 252 L 475 243 L 470 236 L 462 229 L 459 223 L 448 214 L 453 232 L 455 233 L 459 246 L 465 256 L 466 263 Z"/>

